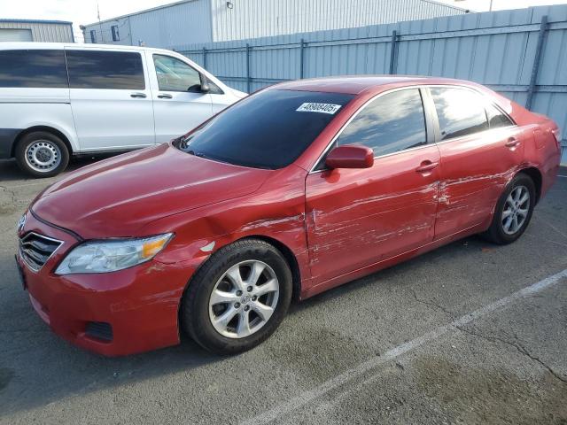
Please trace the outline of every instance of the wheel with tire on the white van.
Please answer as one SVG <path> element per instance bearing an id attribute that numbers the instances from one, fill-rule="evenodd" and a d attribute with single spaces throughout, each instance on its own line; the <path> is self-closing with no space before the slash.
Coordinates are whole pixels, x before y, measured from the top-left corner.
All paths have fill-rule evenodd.
<path id="1" fill-rule="evenodd" d="M 24 135 L 16 146 L 19 167 L 34 177 L 53 177 L 65 170 L 69 150 L 57 136 L 47 131 Z"/>

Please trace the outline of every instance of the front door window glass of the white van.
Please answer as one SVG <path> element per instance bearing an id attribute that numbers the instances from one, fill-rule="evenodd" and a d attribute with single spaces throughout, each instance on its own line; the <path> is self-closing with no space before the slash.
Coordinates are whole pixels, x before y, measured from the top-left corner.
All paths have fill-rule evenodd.
<path id="1" fill-rule="evenodd" d="M 165 55 L 153 55 L 158 86 L 161 91 L 201 91 L 201 76 L 183 60 Z"/>

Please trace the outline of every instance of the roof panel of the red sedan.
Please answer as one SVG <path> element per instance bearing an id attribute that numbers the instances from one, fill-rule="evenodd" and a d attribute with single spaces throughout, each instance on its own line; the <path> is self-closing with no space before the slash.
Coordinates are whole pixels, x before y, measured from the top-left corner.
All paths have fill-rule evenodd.
<path id="1" fill-rule="evenodd" d="M 451 78 L 426 77 L 420 75 L 342 75 L 337 77 L 311 78 L 307 80 L 286 81 L 273 89 L 324 91 L 329 93 L 346 93 L 359 95 L 369 89 L 382 86 L 412 86 L 418 84 L 447 84 L 474 87 L 470 81 Z"/>

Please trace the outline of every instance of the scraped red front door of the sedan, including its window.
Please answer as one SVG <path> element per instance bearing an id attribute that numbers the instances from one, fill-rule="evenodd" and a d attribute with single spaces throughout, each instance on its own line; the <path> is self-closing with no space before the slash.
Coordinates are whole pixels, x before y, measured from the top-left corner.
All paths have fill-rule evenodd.
<path id="1" fill-rule="evenodd" d="M 372 148 L 374 166 L 307 175 L 313 284 L 432 241 L 439 149 L 428 143 L 432 135 L 425 117 L 420 89 L 380 95 L 362 106 L 333 142 Z"/>

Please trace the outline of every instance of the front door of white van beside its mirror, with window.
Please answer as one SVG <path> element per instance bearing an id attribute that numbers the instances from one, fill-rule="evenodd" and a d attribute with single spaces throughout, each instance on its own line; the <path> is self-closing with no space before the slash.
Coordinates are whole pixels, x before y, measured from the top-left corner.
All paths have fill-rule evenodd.
<path id="1" fill-rule="evenodd" d="M 168 142 L 208 120 L 213 106 L 211 94 L 201 91 L 201 74 L 179 58 L 151 51 L 146 55 L 148 63 L 153 64 L 151 97 L 156 143 Z"/>

